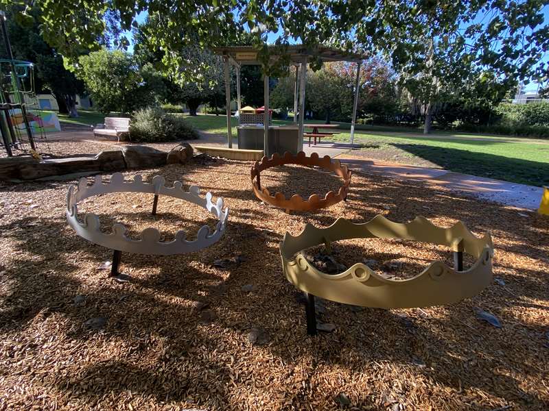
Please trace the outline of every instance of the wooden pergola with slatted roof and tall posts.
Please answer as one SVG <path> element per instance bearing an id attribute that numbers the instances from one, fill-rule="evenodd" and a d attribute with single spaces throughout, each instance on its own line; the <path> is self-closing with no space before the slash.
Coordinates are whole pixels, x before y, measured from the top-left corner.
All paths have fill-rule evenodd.
<path id="1" fill-rule="evenodd" d="M 278 46 L 270 46 L 277 47 Z M 261 62 L 257 60 L 257 51 L 252 46 L 236 47 L 217 47 L 213 51 L 223 56 L 224 75 L 225 75 L 225 95 L 226 95 L 226 113 L 227 113 L 227 140 L 229 148 L 233 147 L 233 136 L 231 132 L 231 79 L 229 68 L 231 65 L 236 67 L 237 82 L 237 107 L 240 113 L 240 67 L 244 65 L 260 66 Z M 309 48 L 303 45 L 291 45 L 285 49 L 285 57 L 290 58 L 290 64 L 296 68 L 296 82 L 294 86 L 294 123 L 299 124 L 299 151 L 303 151 L 303 120 L 305 116 L 305 79 L 307 76 L 307 63 L 312 60 L 322 60 L 323 62 L 355 62 L 358 64 L 355 81 L 355 96 L 353 102 L 353 119 L 351 121 L 351 143 L 354 141 L 356 110 L 358 105 L 358 88 L 360 79 L 360 65 L 366 55 L 347 53 L 346 51 L 331 49 L 329 47 Z M 277 57 L 274 57 L 277 58 Z M 269 77 L 264 75 L 264 152 L 268 153 L 268 132 L 269 132 Z M 296 116 L 299 108 L 299 120 Z"/>

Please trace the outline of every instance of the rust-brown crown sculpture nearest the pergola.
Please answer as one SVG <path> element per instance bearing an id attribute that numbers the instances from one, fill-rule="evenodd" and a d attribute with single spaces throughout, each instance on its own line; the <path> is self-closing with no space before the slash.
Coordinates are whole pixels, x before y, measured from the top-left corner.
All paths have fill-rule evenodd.
<path id="1" fill-rule="evenodd" d="M 343 179 L 343 185 L 338 192 L 329 191 L 324 197 L 313 194 L 307 200 L 304 200 L 297 194 L 294 194 L 290 199 L 287 199 L 281 192 L 277 192 L 273 196 L 267 188 L 261 188 L 261 171 L 284 164 L 318 166 L 321 169 L 336 173 L 336 175 Z M 292 155 L 292 153 L 288 153 L 287 151 L 282 157 L 278 153 L 274 153 L 271 158 L 264 157 L 261 159 L 261 162 L 255 162 L 250 177 L 252 180 L 253 192 L 258 199 L 265 201 L 272 206 L 284 208 L 286 211 L 314 211 L 320 208 L 333 206 L 334 204 L 347 199 L 349 184 L 351 183 L 351 171 L 349 171 L 347 166 L 342 166 L 339 160 L 331 160 L 329 155 L 320 158 L 317 153 L 312 153 L 310 157 L 307 157 L 303 151 L 300 151 L 297 155 Z"/>

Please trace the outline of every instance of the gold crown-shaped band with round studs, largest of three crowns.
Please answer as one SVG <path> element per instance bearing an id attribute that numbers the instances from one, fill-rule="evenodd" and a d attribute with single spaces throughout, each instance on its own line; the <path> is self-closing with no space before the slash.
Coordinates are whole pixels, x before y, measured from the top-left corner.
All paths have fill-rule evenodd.
<path id="1" fill-rule="evenodd" d="M 471 268 L 458 271 L 435 261 L 418 275 L 395 281 L 378 275 L 360 262 L 343 273 L 329 275 L 314 268 L 301 252 L 308 247 L 350 238 L 400 238 L 445 245 L 461 253 L 462 258 L 464 251 L 471 254 L 476 262 Z M 355 306 L 386 309 L 439 306 L 477 295 L 492 281 L 490 235 L 476 238 L 461 221 L 443 228 L 424 217 L 403 224 L 377 215 L 362 224 L 345 219 L 338 219 L 327 228 L 307 224 L 298 236 L 285 234 L 280 254 L 284 273 L 294 286 L 309 295 Z"/>

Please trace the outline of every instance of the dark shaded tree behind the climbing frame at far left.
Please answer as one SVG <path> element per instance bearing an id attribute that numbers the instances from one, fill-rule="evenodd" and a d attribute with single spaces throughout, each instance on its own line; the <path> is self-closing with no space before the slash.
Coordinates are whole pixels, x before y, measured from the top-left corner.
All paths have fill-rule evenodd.
<path id="1" fill-rule="evenodd" d="M 62 55 L 43 40 L 37 19 L 30 21 L 30 25 L 21 25 L 13 16 L 13 12 L 8 12 L 7 26 L 12 53 L 16 60 L 27 60 L 35 64 L 35 91 L 51 92 L 60 113 L 78 117 L 76 95 L 84 92 L 84 84 L 65 69 Z M 4 53 L 3 48 L 0 50 L 0 53 Z M 8 58 L 8 55 L 0 56 Z"/>

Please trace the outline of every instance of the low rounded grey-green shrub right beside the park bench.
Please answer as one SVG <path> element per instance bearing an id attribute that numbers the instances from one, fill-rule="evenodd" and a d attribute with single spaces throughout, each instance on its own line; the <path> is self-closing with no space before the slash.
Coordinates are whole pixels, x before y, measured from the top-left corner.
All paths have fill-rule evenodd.
<path id="1" fill-rule="evenodd" d="M 192 140 L 198 138 L 198 132 L 181 117 L 159 107 L 148 107 L 134 112 L 130 138 L 139 142 Z"/>

